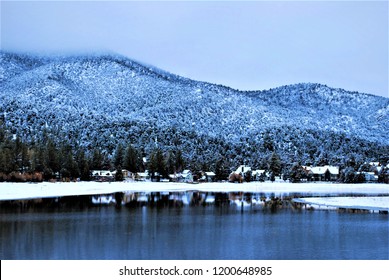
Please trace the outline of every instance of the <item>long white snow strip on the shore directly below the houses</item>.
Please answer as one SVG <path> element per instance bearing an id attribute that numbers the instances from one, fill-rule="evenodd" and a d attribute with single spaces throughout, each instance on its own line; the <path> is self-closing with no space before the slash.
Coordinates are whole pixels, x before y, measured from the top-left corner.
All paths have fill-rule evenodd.
<path id="1" fill-rule="evenodd" d="M 109 194 L 114 192 L 252 192 L 283 196 L 300 193 L 311 195 L 389 195 L 387 184 L 334 184 L 287 182 L 251 183 L 153 183 L 153 182 L 77 182 L 77 183 L 0 183 L 0 200 L 33 199 L 74 195 Z"/>

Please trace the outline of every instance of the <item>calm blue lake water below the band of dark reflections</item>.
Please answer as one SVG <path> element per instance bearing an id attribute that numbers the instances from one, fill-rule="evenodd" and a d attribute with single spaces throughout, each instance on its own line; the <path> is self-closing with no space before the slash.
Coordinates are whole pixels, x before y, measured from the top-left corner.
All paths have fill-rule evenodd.
<path id="1" fill-rule="evenodd" d="M 389 259 L 389 218 L 234 207 L 0 210 L 0 259 Z"/>

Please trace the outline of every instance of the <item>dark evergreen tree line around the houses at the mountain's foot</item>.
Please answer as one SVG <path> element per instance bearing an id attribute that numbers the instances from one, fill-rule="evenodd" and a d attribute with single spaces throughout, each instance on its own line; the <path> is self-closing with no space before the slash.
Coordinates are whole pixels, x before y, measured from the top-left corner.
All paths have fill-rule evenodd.
<path id="1" fill-rule="evenodd" d="M 266 170 L 270 180 L 281 174 L 292 182 L 309 180 L 301 162 L 285 162 L 268 135 L 265 135 L 262 141 L 267 156 L 257 161 L 257 167 Z M 162 178 L 168 178 L 169 174 L 179 173 L 184 169 L 191 169 L 194 174 L 200 171 L 214 171 L 216 180 L 226 180 L 231 171 L 245 163 L 243 159 L 239 162 L 236 159 L 232 162 L 220 156 L 214 162 L 206 159 L 194 161 L 187 158 L 179 148 L 164 149 L 155 145 L 146 152 L 142 147 L 125 141 L 119 142 L 114 151 L 97 146 L 91 149 L 70 144 L 66 140 L 55 141 L 47 131 L 43 132 L 39 140 L 27 143 L 0 124 L 0 181 L 89 181 L 92 179 L 92 170 L 122 169 L 132 173 L 148 170 L 151 177 L 158 174 Z M 330 162 L 324 154 L 318 163 L 326 165 Z M 347 183 L 363 182 L 364 172 L 375 171 L 371 166 L 358 162 L 353 157 L 340 168 L 342 170 L 340 181 Z M 379 181 L 385 181 L 386 172 L 387 170 L 382 168 L 381 173 L 377 174 Z M 120 172 L 117 174 L 119 176 L 116 179 L 122 179 Z M 246 175 L 246 181 L 251 179 L 249 174 Z"/>

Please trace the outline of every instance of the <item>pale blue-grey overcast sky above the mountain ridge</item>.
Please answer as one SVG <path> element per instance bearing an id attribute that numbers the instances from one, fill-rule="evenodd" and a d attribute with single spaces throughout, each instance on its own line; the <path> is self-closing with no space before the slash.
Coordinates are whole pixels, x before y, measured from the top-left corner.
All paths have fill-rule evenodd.
<path id="1" fill-rule="evenodd" d="M 387 1 L 1 1 L 1 48 L 110 51 L 241 90 L 388 96 Z"/>

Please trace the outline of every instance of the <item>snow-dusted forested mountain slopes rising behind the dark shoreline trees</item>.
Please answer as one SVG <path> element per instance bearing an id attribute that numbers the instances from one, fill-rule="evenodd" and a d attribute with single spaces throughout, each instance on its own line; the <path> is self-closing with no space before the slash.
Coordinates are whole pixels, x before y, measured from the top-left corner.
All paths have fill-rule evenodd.
<path id="1" fill-rule="evenodd" d="M 119 55 L 0 53 L 0 116 L 12 133 L 112 152 L 158 145 L 203 164 L 387 159 L 389 98 L 320 84 L 238 91 Z"/>

